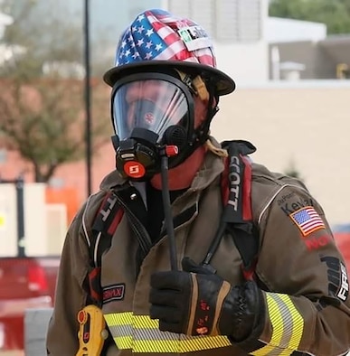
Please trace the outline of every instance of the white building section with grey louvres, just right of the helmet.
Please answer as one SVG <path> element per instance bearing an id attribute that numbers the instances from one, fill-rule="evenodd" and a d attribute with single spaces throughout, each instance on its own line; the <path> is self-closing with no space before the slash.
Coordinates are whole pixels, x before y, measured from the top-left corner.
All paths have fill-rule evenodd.
<path id="1" fill-rule="evenodd" d="M 166 7 L 203 25 L 213 38 L 218 67 L 238 85 L 268 80 L 267 0 L 168 0 Z"/>

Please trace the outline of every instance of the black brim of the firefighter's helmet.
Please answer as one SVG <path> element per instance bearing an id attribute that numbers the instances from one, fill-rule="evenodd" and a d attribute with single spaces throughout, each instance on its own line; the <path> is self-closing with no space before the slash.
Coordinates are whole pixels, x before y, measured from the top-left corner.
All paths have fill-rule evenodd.
<path id="1" fill-rule="evenodd" d="M 117 80 L 120 80 L 128 74 L 134 74 L 137 73 L 137 71 L 143 72 L 155 69 L 157 71 L 162 69 L 178 69 L 185 73 L 194 73 L 201 75 L 204 78 L 211 78 L 214 82 L 215 94 L 219 96 L 230 94 L 236 88 L 234 80 L 222 70 L 217 70 L 216 68 L 207 65 L 189 61 L 142 61 L 124 64 L 108 70 L 104 74 L 103 80 L 110 87 L 113 87 Z"/>

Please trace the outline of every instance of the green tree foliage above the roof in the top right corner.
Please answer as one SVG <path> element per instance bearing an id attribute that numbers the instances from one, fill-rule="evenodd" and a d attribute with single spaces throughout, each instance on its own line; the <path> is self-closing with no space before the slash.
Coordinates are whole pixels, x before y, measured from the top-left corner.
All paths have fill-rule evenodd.
<path id="1" fill-rule="evenodd" d="M 326 23 L 327 33 L 350 33 L 349 0 L 272 0 L 270 16 Z"/>

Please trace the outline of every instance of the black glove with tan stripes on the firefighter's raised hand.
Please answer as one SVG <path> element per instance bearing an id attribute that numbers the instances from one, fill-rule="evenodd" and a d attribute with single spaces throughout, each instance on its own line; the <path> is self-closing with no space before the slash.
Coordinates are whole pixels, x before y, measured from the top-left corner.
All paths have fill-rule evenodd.
<path id="1" fill-rule="evenodd" d="M 159 319 L 159 329 L 186 335 L 227 335 L 233 342 L 247 338 L 263 310 L 262 293 L 255 282 L 232 287 L 189 258 L 182 262 L 184 271 L 151 276 L 150 317 Z"/>

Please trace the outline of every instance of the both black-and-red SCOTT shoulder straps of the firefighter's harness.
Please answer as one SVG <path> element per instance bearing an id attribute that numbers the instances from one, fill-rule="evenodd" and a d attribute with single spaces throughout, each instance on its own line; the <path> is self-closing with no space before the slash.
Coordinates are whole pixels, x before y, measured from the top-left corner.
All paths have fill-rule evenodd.
<path id="1" fill-rule="evenodd" d="M 222 173 L 222 201 L 224 204 L 222 219 L 212 245 L 203 259 L 203 266 L 215 270 L 210 265 L 211 259 L 225 233 L 232 235 L 242 259 L 242 273 L 251 279 L 259 248 L 257 231 L 251 214 L 251 161 L 248 155 L 256 148 L 248 141 L 224 141 L 222 148 L 227 149 L 225 170 Z M 90 239 L 90 290 L 91 297 L 101 303 L 99 273 L 101 256 L 110 247 L 111 239 L 123 216 L 123 209 L 118 205 L 113 191 L 106 194 L 94 223 Z"/>

